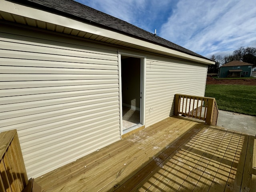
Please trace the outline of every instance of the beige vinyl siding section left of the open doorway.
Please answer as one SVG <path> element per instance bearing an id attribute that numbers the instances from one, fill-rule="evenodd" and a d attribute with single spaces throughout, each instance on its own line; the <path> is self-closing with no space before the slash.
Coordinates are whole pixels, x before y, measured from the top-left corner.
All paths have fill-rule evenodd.
<path id="1" fill-rule="evenodd" d="M 29 178 L 119 140 L 117 49 L 0 28 L 0 130 L 11 129 Z"/>

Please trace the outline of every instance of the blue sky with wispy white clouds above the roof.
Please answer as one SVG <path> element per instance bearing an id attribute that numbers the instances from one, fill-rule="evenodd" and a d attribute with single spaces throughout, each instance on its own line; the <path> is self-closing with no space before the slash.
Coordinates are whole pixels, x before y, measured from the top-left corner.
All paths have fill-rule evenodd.
<path id="1" fill-rule="evenodd" d="M 202 56 L 256 47 L 255 0 L 76 0 Z"/>

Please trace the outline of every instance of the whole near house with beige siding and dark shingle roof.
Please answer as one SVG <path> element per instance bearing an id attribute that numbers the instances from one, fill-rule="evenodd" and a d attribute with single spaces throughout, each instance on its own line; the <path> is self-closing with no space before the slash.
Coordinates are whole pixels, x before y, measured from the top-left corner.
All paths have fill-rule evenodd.
<path id="1" fill-rule="evenodd" d="M 0 130 L 18 131 L 28 177 L 172 116 L 174 94 L 204 96 L 214 64 L 72 0 L 1 0 L 0 26 Z"/>

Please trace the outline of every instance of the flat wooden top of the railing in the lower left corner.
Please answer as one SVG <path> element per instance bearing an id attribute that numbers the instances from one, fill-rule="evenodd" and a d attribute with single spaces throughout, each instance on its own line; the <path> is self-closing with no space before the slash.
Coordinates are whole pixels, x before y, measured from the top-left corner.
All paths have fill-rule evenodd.
<path id="1" fill-rule="evenodd" d="M 0 132 L 0 158 L 3 157 L 7 148 L 10 146 L 16 132 L 16 130 Z"/>

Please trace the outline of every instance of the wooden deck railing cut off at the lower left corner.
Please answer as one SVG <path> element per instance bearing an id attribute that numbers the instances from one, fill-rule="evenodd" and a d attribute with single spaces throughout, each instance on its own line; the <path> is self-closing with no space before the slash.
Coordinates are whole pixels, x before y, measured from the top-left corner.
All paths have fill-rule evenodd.
<path id="1" fill-rule="evenodd" d="M 16 130 L 0 133 L 0 191 L 21 192 L 28 176 Z"/>

